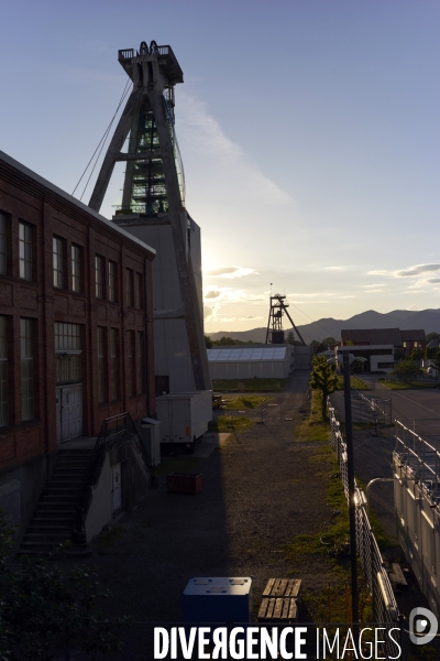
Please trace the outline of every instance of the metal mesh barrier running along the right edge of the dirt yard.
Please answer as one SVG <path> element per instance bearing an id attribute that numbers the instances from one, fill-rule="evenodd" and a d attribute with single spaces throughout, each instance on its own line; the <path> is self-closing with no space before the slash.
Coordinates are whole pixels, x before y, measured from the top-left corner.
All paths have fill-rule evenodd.
<path id="1" fill-rule="evenodd" d="M 349 478 L 346 466 L 346 444 L 342 438 L 340 425 L 334 415 L 334 409 L 329 405 L 329 418 L 331 427 L 330 444 L 334 449 L 341 470 L 342 484 L 346 499 L 349 498 Z M 356 545 L 361 560 L 361 566 L 373 598 L 373 617 L 377 622 L 386 626 L 402 628 L 396 598 L 384 561 L 374 537 L 367 513 L 366 498 L 362 489 L 355 485 L 354 500 L 356 505 Z M 385 644 L 385 658 L 393 658 L 394 648 Z M 404 657 L 402 657 L 404 658 Z"/>

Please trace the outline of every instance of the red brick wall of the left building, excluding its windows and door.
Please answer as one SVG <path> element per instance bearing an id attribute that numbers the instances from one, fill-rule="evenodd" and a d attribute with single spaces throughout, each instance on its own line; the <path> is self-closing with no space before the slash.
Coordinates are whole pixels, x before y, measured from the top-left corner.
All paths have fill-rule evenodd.
<path id="1" fill-rule="evenodd" d="M 79 324 L 81 328 L 81 380 L 84 435 L 97 435 L 102 421 L 129 411 L 134 420 L 154 415 L 153 296 L 152 260 L 154 252 L 112 228 L 88 212 L 80 203 L 57 192 L 32 173 L 0 160 L 0 212 L 8 219 L 8 270 L 0 274 L 0 314 L 8 319 L 9 424 L 0 427 L 0 472 L 35 456 L 56 452 L 56 359 L 55 322 Z M 32 227 L 32 280 L 20 279 L 19 224 Z M 63 240 L 63 288 L 54 288 L 53 237 Z M 81 249 L 81 291 L 72 286 L 72 245 Z M 96 297 L 95 256 L 117 264 L 117 300 Z M 142 307 L 125 300 L 127 269 L 146 272 Z M 33 321 L 34 419 L 22 421 L 20 319 Z M 146 321 L 147 319 L 147 321 Z M 110 400 L 106 380 L 105 403 L 98 402 L 97 326 L 116 328 L 118 395 Z M 127 330 L 144 334 L 144 392 L 129 395 Z M 146 334 L 145 334 L 146 330 Z M 109 362 L 109 344 L 106 345 Z M 145 371 L 146 368 L 146 371 Z M 147 390 L 147 392 L 146 392 Z M 1 481 L 1 473 L 0 473 Z"/>

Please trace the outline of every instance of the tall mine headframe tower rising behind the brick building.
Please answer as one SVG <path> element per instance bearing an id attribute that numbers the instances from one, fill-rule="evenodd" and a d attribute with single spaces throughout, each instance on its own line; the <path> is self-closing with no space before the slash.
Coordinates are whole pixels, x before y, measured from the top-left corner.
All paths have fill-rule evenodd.
<path id="1" fill-rule="evenodd" d="M 103 159 L 89 206 L 99 212 L 117 162 L 127 163 L 122 204 L 113 221 L 157 249 L 153 262 L 155 356 L 158 373 L 169 373 L 170 391 L 211 388 L 205 347 L 200 230 L 185 208 L 185 178 L 175 133 L 174 86 L 183 71 L 169 45 L 125 48 L 118 59 L 133 83 Z M 162 261 L 161 261 L 162 260 Z M 172 260 L 172 261 L 170 261 Z M 160 283 L 160 284 L 158 284 Z M 157 322 L 157 323 L 156 323 Z M 183 324 L 180 326 L 179 324 Z M 156 353 L 156 351 L 155 351 Z M 189 375 L 183 384 L 182 360 Z M 174 355 L 174 367 L 169 357 Z M 164 371 L 165 370 L 165 371 Z M 156 372 L 157 373 L 157 372 Z"/>

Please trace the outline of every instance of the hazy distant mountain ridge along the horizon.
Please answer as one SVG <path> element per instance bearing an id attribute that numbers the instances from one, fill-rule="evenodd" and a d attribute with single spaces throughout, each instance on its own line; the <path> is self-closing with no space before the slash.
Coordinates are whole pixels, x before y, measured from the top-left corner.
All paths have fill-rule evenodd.
<path id="1" fill-rule="evenodd" d="M 324 337 L 334 337 L 340 339 L 342 329 L 352 328 L 400 328 L 415 329 L 422 328 L 425 333 L 440 333 L 440 310 L 394 310 L 386 314 L 369 310 L 361 314 L 355 314 L 349 319 L 333 319 L 332 317 L 322 318 L 311 324 L 298 326 L 298 330 L 304 337 L 306 344 L 312 339 L 321 340 Z M 285 333 L 292 330 L 286 328 Z M 221 337 L 232 337 L 241 342 L 265 342 L 266 328 L 253 328 L 252 330 L 220 330 L 210 334 L 211 339 Z"/>

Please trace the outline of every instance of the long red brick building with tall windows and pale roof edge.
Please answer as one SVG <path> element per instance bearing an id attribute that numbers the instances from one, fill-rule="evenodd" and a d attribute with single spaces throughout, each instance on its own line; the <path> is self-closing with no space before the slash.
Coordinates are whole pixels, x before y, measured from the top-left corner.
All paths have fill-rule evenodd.
<path id="1" fill-rule="evenodd" d="M 63 442 L 154 416 L 154 254 L 0 152 L 0 506 L 15 523 Z"/>

